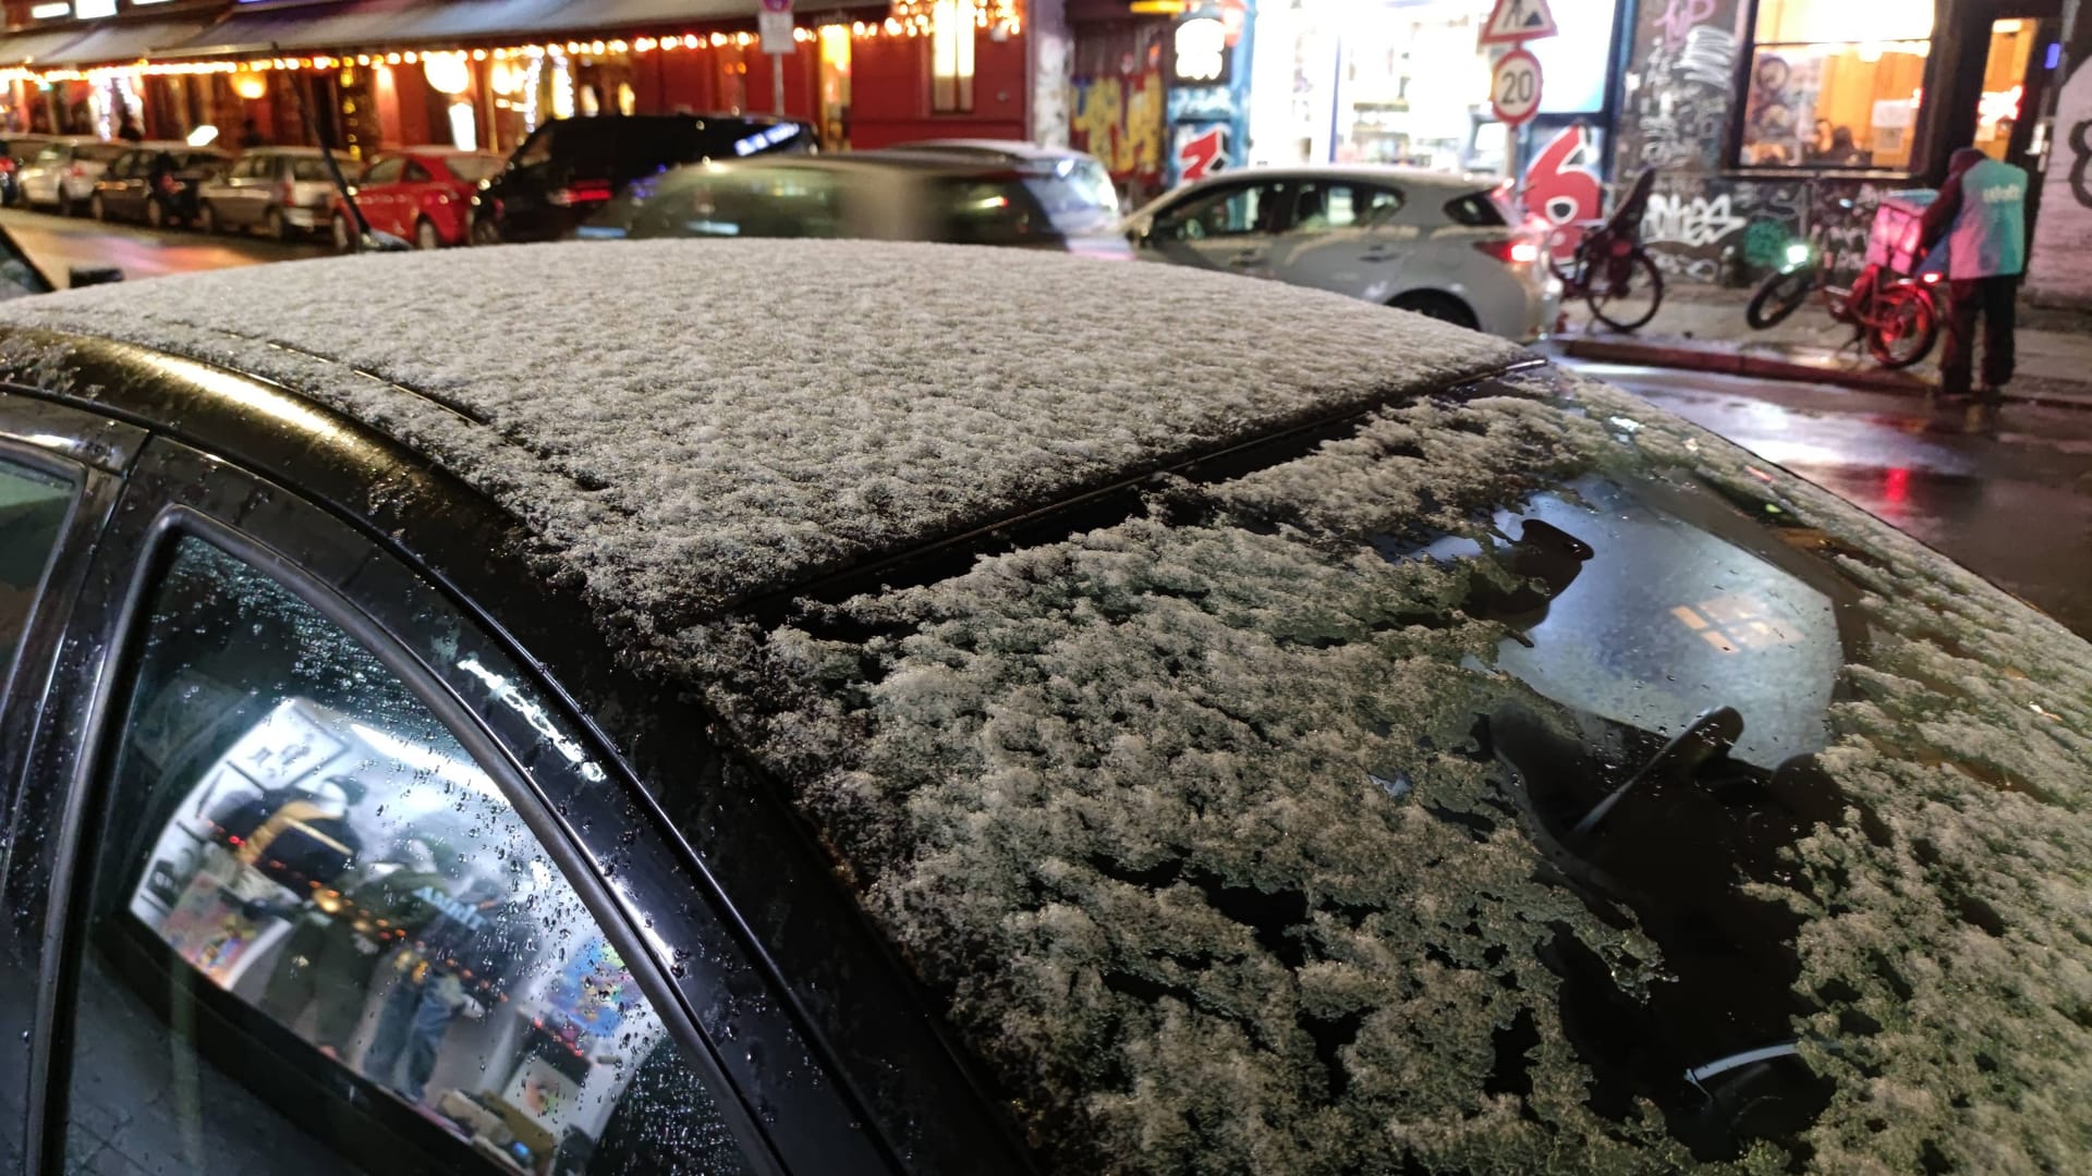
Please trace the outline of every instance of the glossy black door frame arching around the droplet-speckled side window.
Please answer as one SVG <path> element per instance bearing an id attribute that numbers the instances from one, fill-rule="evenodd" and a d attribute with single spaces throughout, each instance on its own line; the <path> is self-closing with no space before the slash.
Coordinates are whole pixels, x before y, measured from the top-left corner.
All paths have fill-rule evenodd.
<path id="1" fill-rule="evenodd" d="M 715 1094 L 755 1172 L 889 1170 L 870 1132 L 862 1130 L 862 1113 L 841 1099 L 820 1067 L 797 1067 L 793 1086 L 755 1073 L 761 1067 L 749 1057 L 757 1053 L 753 1044 L 743 1053 L 718 1048 L 715 1034 L 707 1032 L 718 1025 L 703 1027 L 705 1004 L 718 1004 L 722 994 L 741 1000 L 761 996 L 749 992 L 749 960 L 734 927 L 724 912 L 692 912 L 701 891 L 682 877 L 659 829 L 638 820 L 630 797 L 644 793 L 630 778 L 615 781 L 621 787 L 602 783 L 623 776 L 621 764 L 594 747 L 586 726 L 559 714 L 556 695 L 533 680 L 527 663 L 435 584 L 345 521 L 169 437 L 146 442 L 130 469 L 113 521 L 96 544 L 82 605 L 69 621 L 65 640 L 84 655 L 59 670 L 73 670 L 73 684 L 56 686 L 59 714 L 46 709 L 40 716 L 27 749 L 29 770 L 63 778 L 65 787 L 44 795 L 23 789 L 25 801 L 46 804 L 40 812 L 29 812 L 38 806 L 21 806 L 23 820 L 61 829 L 56 837 L 40 839 L 36 862 L 54 885 L 48 887 L 42 921 L 38 1019 L 29 1042 L 25 1170 L 56 1172 L 63 1155 L 63 1132 L 54 1128 L 63 1126 L 56 1113 L 69 1078 L 56 1023 L 77 981 L 79 919 L 92 870 L 86 835 L 100 829 L 98 806 L 107 789 L 100 776 L 121 730 L 128 668 L 151 590 L 178 536 L 213 542 L 318 607 L 458 734 L 619 948 L 661 1021 L 684 1046 L 684 1059 Z M 427 647 L 431 634 L 416 617 L 431 607 L 454 611 L 464 621 L 458 632 L 473 638 L 469 655 L 439 655 Z M 86 651 L 98 651 L 98 657 Z M 462 668 L 464 661 L 477 670 Z M 487 674 L 517 691 L 494 691 Z M 598 864 L 615 864 L 615 887 Z M 665 944 L 678 944 L 667 958 Z M 715 1021 L 718 1011 L 709 1013 Z M 780 1050 L 770 1057 L 814 1057 L 791 1032 L 778 1032 L 766 1046 L 764 1053 Z"/>

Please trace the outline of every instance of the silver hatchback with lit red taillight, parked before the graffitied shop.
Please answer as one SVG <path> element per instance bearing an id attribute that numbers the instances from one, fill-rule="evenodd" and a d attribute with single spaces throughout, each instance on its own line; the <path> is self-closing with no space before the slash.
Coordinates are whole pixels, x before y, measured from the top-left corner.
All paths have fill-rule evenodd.
<path id="1" fill-rule="evenodd" d="M 1125 218 L 1142 259 L 1337 291 L 1506 339 L 1554 322 L 1542 236 L 1487 184 L 1410 167 L 1257 167 Z"/>

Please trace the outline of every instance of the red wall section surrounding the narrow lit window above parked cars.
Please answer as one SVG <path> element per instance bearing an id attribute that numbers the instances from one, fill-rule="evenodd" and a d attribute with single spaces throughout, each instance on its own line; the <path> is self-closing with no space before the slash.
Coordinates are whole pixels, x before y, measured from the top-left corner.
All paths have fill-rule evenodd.
<path id="1" fill-rule="evenodd" d="M 973 113 L 929 109 L 929 38 L 862 38 L 849 46 L 849 144 L 910 138 L 1023 138 L 1025 38 L 973 44 Z"/>

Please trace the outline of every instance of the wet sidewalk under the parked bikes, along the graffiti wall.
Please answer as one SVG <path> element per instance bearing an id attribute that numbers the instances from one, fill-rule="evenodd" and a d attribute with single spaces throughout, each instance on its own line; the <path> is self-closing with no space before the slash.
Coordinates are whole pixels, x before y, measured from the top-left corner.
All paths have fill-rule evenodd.
<path id="1" fill-rule="evenodd" d="M 1761 379 L 1820 381 L 1872 391 L 1918 393 L 1939 385 L 1939 347 L 1912 368 L 1887 372 L 1849 345 L 1851 326 L 1807 301 L 1787 322 L 1751 331 L 1751 291 L 1665 287 L 1663 308 L 1634 335 L 1594 322 L 1582 301 L 1565 303 L 1567 329 L 1542 349 L 1579 360 L 1651 364 Z M 2019 375 L 2006 400 L 2092 408 L 2092 314 L 2019 308 Z"/>

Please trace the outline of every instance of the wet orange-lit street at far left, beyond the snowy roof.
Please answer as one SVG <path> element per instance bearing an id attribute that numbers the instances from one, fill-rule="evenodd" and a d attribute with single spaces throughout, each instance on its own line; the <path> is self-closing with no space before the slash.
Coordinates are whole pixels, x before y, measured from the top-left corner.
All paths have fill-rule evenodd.
<path id="1" fill-rule="evenodd" d="M 67 285 L 65 274 L 73 266 L 115 266 L 126 278 L 155 278 L 326 253 L 318 239 L 282 243 L 249 234 L 205 236 L 186 228 L 155 232 L 142 224 L 98 224 L 25 209 L 0 211 L 0 224 L 59 287 Z"/>

